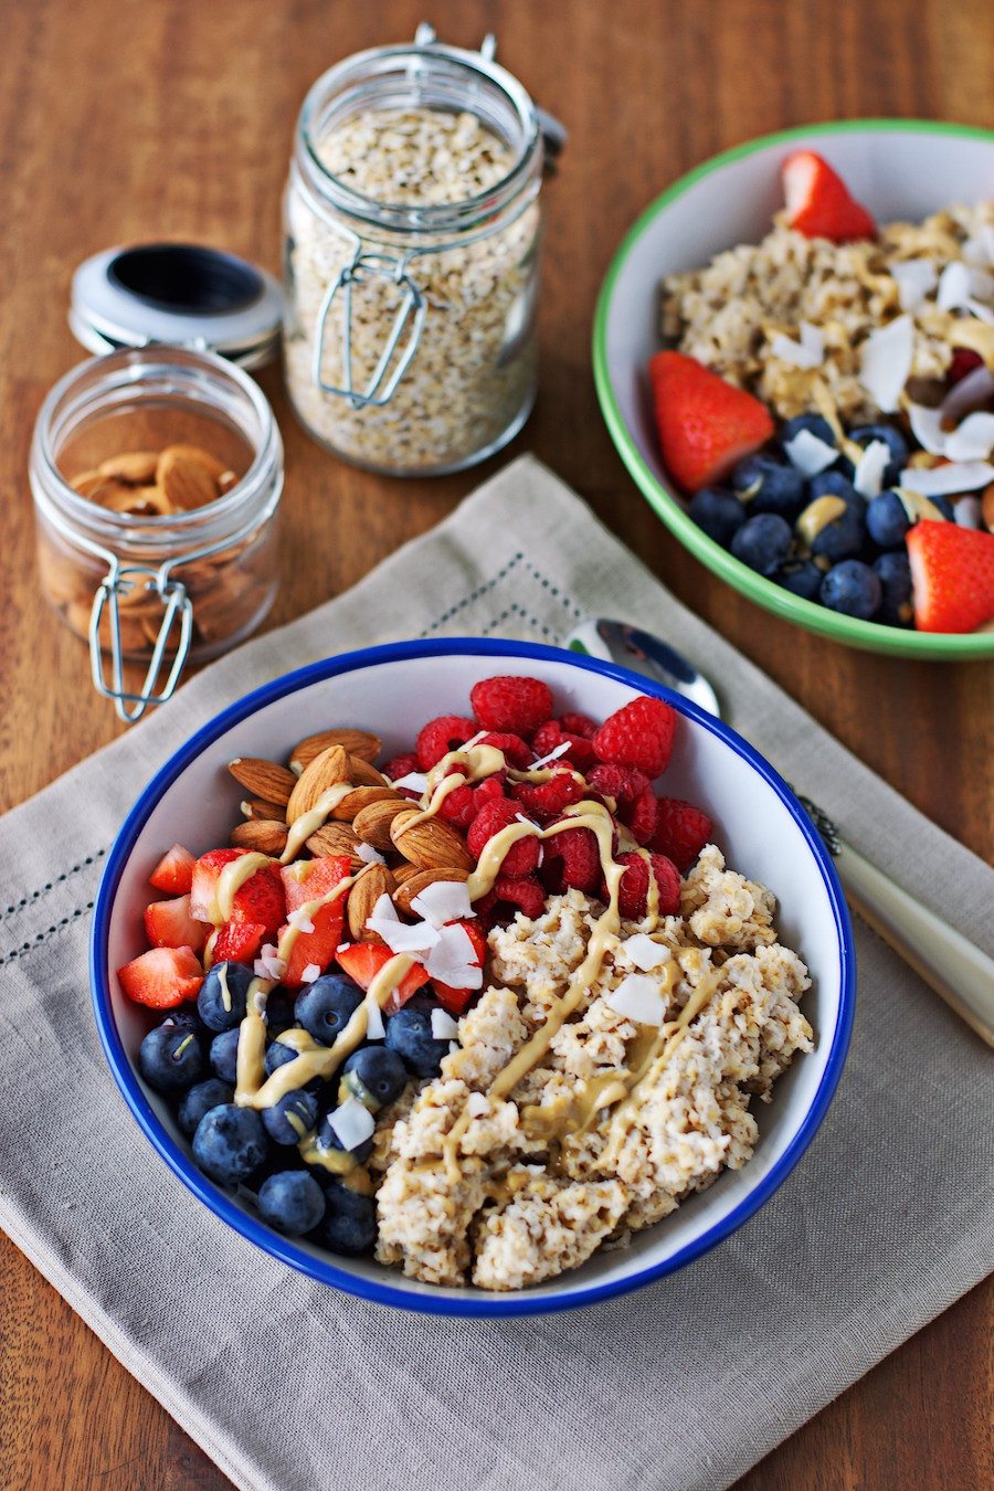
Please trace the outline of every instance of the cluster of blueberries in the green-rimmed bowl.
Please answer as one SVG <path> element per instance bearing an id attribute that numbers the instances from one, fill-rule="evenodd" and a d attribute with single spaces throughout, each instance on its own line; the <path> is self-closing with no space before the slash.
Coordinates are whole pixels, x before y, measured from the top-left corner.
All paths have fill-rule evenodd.
<path id="1" fill-rule="evenodd" d="M 821 414 L 799 414 L 782 425 L 781 447 L 802 429 L 836 446 L 832 426 Z M 863 449 L 873 440 L 887 444 L 891 458 L 879 497 L 867 501 L 855 491 L 852 462 L 842 452 L 827 471 L 814 477 L 805 477 L 787 455 L 763 452 L 739 461 L 727 488 L 696 492 L 690 516 L 750 570 L 805 601 L 820 601 L 864 622 L 908 626 L 912 608 L 905 535 L 911 519 L 893 491 L 908 465 L 908 441 L 893 425 L 860 425 L 849 431 L 849 440 Z M 794 525 L 820 497 L 842 498 L 845 510 L 809 541 L 805 535 L 799 543 L 803 528 L 796 534 Z M 943 517 L 952 519 L 948 498 L 931 501 Z M 796 556 L 799 547 L 805 550 L 803 558 Z"/>

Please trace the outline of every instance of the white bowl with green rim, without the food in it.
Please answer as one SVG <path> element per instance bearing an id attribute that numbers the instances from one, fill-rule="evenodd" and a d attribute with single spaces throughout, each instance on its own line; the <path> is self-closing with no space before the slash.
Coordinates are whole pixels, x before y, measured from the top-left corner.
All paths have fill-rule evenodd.
<path id="1" fill-rule="evenodd" d="M 614 255 L 593 327 L 601 410 L 636 485 L 666 526 L 742 595 L 809 632 L 867 652 L 924 659 L 994 658 L 994 632 L 914 632 L 858 622 L 756 574 L 697 528 L 666 474 L 651 416 L 647 364 L 659 350 L 659 282 L 736 243 L 759 243 L 782 206 L 790 151 L 818 151 L 881 222 L 919 219 L 994 189 L 994 131 L 927 119 L 852 119 L 767 134 L 681 176 L 638 218 Z"/>

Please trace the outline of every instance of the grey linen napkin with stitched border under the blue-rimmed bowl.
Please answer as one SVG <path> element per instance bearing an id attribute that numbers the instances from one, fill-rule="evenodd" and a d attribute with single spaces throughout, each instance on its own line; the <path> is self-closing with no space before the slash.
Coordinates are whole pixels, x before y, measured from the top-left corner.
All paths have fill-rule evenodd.
<path id="1" fill-rule="evenodd" d="M 241 1242 L 140 1138 L 94 1032 L 86 936 L 151 772 L 222 705 L 314 658 L 419 634 L 554 643 L 596 613 L 696 658 L 858 848 L 990 947 L 990 871 L 534 461 L 200 674 L 0 823 L 0 1223 L 240 1487 L 723 1488 L 994 1266 L 990 1053 L 864 926 L 852 1051 L 799 1169 L 711 1254 L 587 1311 L 449 1323 L 340 1296 Z"/>

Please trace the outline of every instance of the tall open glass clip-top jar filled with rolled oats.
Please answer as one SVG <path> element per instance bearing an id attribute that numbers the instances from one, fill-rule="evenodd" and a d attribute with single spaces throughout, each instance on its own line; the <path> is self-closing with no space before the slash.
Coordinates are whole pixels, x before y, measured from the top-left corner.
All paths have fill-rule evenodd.
<path id="1" fill-rule="evenodd" d="M 422 27 L 332 67 L 298 119 L 286 383 L 310 434 L 374 471 L 483 461 L 535 398 L 542 130 L 492 58 Z"/>

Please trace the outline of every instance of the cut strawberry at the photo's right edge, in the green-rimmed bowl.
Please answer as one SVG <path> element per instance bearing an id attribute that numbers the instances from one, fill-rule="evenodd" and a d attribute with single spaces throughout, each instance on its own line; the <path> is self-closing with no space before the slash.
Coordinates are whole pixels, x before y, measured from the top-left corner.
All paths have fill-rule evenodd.
<path id="1" fill-rule="evenodd" d="M 994 620 L 994 534 L 924 520 L 906 543 L 919 632 L 973 632 Z"/>

